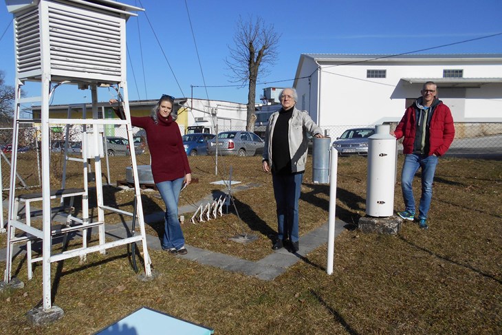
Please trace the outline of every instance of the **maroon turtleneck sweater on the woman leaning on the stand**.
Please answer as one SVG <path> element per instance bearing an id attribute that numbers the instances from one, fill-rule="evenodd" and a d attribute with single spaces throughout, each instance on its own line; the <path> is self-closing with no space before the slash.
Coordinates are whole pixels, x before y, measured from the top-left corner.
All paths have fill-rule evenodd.
<path id="1" fill-rule="evenodd" d="M 155 124 L 150 116 L 131 116 L 132 125 L 146 131 L 155 184 L 176 180 L 184 177 L 186 173 L 192 173 L 177 123 L 171 115 L 166 119 L 157 113 L 157 118 L 158 123 Z"/>

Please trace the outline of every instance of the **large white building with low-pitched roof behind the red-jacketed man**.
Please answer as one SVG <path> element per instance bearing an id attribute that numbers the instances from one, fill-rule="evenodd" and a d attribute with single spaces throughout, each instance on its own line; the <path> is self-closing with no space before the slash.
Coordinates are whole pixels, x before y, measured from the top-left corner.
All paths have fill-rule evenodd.
<path id="1" fill-rule="evenodd" d="M 455 122 L 502 122 L 502 54 L 302 54 L 295 78 L 320 127 L 399 121 L 429 80 Z"/>

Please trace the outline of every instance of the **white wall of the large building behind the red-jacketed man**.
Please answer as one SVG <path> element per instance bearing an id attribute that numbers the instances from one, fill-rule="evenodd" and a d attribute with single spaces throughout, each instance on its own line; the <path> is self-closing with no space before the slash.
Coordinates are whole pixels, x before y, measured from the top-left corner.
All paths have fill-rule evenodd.
<path id="1" fill-rule="evenodd" d="M 305 96 L 312 118 L 321 127 L 378 125 L 400 120 L 406 99 L 418 98 L 422 89 L 422 83 L 408 83 L 401 78 L 441 78 L 444 69 L 463 69 L 464 78 L 500 77 L 502 74 L 502 65 L 472 62 L 431 64 L 387 60 L 340 66 L 322 64 L 318 111 L 316 75 L 312 76 L 310 84 L 307 79 L 296 83 L 298 104 L 301 104 L 300 96 Z M 315 69 L 312 58 L 306 58 L 297 76 L 309 76 Z M 385 69 L 386 78 L 367 78 L 367 69 Z M 502 84 L 481 85 L 480 88 L 439 87 L 439 99 L 450 107 L 456 122 L 502 121 Z"/>

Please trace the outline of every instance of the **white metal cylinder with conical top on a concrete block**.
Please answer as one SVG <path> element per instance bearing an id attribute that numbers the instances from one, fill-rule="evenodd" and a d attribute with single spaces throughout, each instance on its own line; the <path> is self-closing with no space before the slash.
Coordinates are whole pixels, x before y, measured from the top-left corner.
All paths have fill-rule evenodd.
<path id="1" fill-rule="evenodd" d="M 394 210 L 396 140 L 390 125 L 375 126 L 368 143 L 366 214 L 390 217 Z"/>

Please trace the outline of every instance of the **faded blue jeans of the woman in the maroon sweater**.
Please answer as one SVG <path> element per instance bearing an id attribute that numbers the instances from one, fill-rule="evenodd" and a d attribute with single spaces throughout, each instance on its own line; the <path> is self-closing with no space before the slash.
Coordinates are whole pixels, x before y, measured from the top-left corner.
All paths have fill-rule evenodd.
<path id="1" fill-rule="evenodd" d="M 178 220 L 178 199 L 179 192 L 182 191 L 184 178 L 160 182 L 155 184 L 160 196 L 166 204 L 166 215 L 164 217 L 164 237 L 162 238 L 162 248 L 179 249 L 185 245 L 182 226 Z"/>

